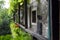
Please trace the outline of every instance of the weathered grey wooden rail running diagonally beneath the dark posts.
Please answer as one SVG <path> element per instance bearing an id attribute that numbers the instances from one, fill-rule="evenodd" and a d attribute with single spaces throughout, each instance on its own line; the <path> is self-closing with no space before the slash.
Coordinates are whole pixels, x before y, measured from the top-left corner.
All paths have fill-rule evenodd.
<path id="1" fill-rule="evenodd" d="M 44 36 L 39 35 L 39 34 L 37 34 L 37 33 L 35 33 L 35 32 L 32 32 L 32 31 L 30 31 L 29 29 L 26 29 L 24 26 L 22 26 L 22 25 L 20 25 L 20 24 L 19 24 L 19 26 L 20 26 L 20 28 L 22 28 L 25 32 L 31 34 L 32 36 L 34 36 L 34 37 L 37 38 L 38 40 L 48 40 L 48 39 L 45 38 Z"/>

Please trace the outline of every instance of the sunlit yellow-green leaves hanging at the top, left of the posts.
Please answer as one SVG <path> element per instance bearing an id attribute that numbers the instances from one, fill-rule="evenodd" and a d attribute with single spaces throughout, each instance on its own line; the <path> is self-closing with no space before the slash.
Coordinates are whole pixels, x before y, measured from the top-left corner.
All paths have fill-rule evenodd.
<path id="1" fill-rule="evenodd" d="M 16 13 L 18 10 L 18 4 L 23 4 L 24 0 L 9 0 L 10 8 L 9 8 L 9 15 L 13 15 L 13 13 Z M 27 0 L 27 3 L 30 3 L 30 0 Z"/>

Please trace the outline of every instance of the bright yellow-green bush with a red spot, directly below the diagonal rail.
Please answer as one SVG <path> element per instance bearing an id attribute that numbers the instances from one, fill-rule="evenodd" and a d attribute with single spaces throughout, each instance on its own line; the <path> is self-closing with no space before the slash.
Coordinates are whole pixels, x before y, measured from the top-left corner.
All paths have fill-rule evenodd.
<path id="1" fill-rule="evenodd" d="M 10 23 L 10 28 L 13 40 L 32 40 L 31 35 L 24 32 L 21 28 L 17 27 L 14 22 Z"/>

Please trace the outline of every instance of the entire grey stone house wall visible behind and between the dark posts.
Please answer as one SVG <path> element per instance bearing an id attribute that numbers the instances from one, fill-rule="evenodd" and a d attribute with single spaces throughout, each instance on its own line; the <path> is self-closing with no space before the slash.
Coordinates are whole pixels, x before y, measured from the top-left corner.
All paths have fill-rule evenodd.
<path id="1" fill-rule="evenodd" d="M 30 0 L 27 7 L 20 6 L 20 23 L 23 25 L 27 23 L 27 29 L 48 38 L 48 0 Z"/>

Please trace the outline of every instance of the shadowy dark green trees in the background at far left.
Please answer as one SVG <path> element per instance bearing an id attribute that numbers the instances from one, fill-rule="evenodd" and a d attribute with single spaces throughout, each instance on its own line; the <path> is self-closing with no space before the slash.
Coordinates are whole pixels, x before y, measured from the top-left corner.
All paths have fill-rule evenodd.
<path id="1" fill-rule="evenodd" d="M 3 8 L 4 1 L 0 1 L 0 35 L 10 33 L 8 9 Z"/>

